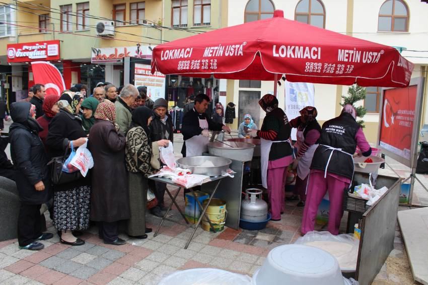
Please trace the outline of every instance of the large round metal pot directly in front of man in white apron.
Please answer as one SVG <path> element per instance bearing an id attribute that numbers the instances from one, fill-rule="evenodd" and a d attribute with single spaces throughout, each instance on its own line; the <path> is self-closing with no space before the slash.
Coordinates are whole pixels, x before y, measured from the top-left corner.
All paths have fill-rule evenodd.
<path id="1" fill-rule="evenodd" d="M 238 161 L 251 161 L 256 146 L 248 142 L 224 141 L 210 142 L 208 153 L 211 155 L 229 158 Z"/>

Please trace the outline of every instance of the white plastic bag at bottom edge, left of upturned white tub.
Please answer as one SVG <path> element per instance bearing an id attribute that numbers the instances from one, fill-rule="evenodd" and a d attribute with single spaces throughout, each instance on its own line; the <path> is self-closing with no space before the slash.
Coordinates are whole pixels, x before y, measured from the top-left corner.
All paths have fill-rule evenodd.
<path id="1" fill-rule="evenodd" d="M 161 280 L 153 280 L 150 285 L 250 285 L 247 275 L 229 272 L 217 268 L 194 268 L 164 274 Z"/>

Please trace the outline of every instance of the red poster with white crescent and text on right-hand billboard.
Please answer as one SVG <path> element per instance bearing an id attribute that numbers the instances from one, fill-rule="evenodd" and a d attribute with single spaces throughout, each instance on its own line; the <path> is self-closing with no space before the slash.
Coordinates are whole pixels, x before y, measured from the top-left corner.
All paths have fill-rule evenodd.
<path id="1" fill-rule="evenodd" d="M 379 146 L 410 160 L 417 86 L 387 89 L 383 110 Z"/>

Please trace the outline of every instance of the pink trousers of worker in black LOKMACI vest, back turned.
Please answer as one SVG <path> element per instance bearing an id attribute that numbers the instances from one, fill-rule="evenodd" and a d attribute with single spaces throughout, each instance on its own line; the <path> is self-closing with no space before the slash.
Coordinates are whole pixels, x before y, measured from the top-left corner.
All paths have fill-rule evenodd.
<path id="1" fill-rule="evenodd" d="M 314 230 L 315 218 L 317 216 L 318 206 L 328 190 L 330 200 L 330 211 L 328 214 L 328 231 L 333 235 L 339 234 L 340 220 L 343 216 L 343 189 L 349 186 L 337 175 L 327 172 L 327 178 L 324 178 L 324 171 L 311 171 L 309 174 L 309 185 L 305 209 L 303 211 L 302 233 L 306 234 Z"/>

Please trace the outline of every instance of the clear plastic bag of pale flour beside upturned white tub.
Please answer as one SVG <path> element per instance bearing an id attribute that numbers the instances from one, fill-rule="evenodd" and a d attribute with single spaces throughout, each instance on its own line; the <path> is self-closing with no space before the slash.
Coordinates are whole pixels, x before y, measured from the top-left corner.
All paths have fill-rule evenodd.
<path id="1" fill-rule="evenodd" d="M 334 236 L 329 232 L 309 232 L 298 238 L 295 244 L 304 244 L 325 250 L 339 262 L 343 271 L 355 271 L 360 241 L 353 234 Z"/>

